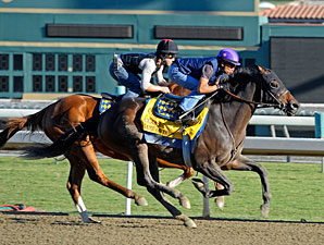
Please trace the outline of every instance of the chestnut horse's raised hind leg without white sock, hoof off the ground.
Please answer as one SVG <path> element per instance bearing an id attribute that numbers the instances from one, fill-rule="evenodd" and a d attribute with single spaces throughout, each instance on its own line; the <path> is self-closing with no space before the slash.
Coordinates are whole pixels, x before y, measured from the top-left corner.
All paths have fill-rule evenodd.
<path id="1" fill-rule="evenodd" d="M 87 138 L 88 138 L 88 136 L 87 136 Z M 101 170 L 101 168 L 99 166 L 98 159 L 95 154 L 94 146 L 89 139 L 82 142 L 80 145 L 82 145 L 80 149 L 84 154 L 84 158 L 86 159 L 85 163 L 86 163 L 87 172 L 88 172 L 88 175 L 91 181 L 95 181 L 105 187 L 109 187 L 109 188 L 122 194 L 123 196 L 125 196 L 127 198 L 135 199 L 135 204 L 138 206 L 147 206 L 148 205 L 147 200 L 142 196 L 138 195 L 137 193 L 133 192 L 132 189 L 125 188 L 125 187 L 114 183 L 113 181 L 109 180 L 105 176 L 105 174 L 103 173 L 103 171 Z"/>

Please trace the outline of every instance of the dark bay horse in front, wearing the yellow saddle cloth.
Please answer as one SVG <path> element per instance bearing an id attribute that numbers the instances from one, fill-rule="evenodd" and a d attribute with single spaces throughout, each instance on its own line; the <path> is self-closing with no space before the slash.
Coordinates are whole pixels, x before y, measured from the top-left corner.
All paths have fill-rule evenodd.
<path id="1" fill-rule="evenodd" d="M 233 184 L 222 169 L 254 171 L 262 184 L 261 213 L 266 217 L 271 199 L 267 174 L 264 167 L 241 155 L 246 127 L 258 106 L 279 108 L 287 115 L 292 115 L 297 113 L 299 103 L 273 71 L 260 65 L 238 69 L 227 82 L 227 86 L 228 88 L 217 96 L 210 96 L 205 127 L 190 155 L 194 169 L 222 184 L 224 188 L 209 191 L 201 181 L 195 180 L 194 183 L 204 197 L 229 195 Z M 101 117 L 98 136 L 103 146 L 135 162 L 139 185 L 146 186 L 174 218 L 187 226 L 195 228 L 196 223 L 162 195 L 165 193 L 180 198 L 182 194 L 160 183 L 157 158 L 183 166 L 183 152 L 178 148 L 146 143 L 138 117 L 145 105 L 146 100 L 142 98 L 129 98 L 113 107 L 109 113 Z M 48 150 L 60 148 L 60 139 L 52 146 L 54 148 L 48 147 L 38 151 L 39 156 L 49 156 L 51 154 Z M 65 146 L 60 150 L 66 150 Z"/>

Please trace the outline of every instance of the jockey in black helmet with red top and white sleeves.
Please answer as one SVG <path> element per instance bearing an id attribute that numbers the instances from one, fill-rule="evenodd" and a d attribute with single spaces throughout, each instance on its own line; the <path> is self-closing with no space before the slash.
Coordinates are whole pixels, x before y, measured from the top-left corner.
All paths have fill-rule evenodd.
<path id="1" fill-rule="evenodd" d="M 170 89 L 162 72 L 164 65 L 170 66 L 175 61 L 177 52 L 177 45 L 172 39 L 163 39 L 152 53 L 114 54 L 109 72 L 115 81 L 128 88 L 123 99 L 138 97 L 144 91 L 169 94 Z M 155 75 L 158 85 L 151 83 L 152 75 Z"/>

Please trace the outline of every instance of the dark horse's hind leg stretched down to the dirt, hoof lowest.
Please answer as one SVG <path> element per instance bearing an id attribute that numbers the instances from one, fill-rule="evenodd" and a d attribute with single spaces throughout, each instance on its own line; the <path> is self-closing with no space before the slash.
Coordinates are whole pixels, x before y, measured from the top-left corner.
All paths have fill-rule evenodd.
<path id="1" fill-rule="evenodd" d="M 142 160 L 144 158 L 146 158 L 146 159 Z M 170 211 L 170 213 L 175 219 L 183 221 L 184 224 L 188 228 L 197 228 L 194 220 L 191 220 L 187 216 L 183 215 L 159 191 L 158 187 L 160 187 L 160 188 L 162 187 L 161 188 L 162 191 L 165 191 L 165 193 L 171 194 L 170 192 L 166 192 L 166 188 L 164 188 L 161 184 L 159 184 L 159 169 L 158 169 L 158 164 L 157 164 L 157 159 L 154 157 L 150 157 L 150 160 L 148 160 L 148 157 L 144 157 L 144 156 L 140 156 L 140 155 L 138 155 L 138 157 L 135 156 L 134 159 L 135 159 L 135 163 L 136 163 L 136 173 L 137 173 L 137 183 L 138 183 L 138 185 L 146 186 L 148 192 L 157 200 L 159 200 Z"/>

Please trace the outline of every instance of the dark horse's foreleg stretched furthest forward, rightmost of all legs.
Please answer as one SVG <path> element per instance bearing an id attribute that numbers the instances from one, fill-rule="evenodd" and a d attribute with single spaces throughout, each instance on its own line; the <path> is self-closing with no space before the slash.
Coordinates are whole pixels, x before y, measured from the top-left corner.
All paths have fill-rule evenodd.
<path id="1" fill-rule="evenodd" d="M 265 168 L 253 160 L 240 155 L 235 161 L 226 166 L 228 170 L 253 171 L 260 176 L 262 184 L 262 198 L 261 213 L 264 218 L 269 216 L 271 193 L 269 188 L 267 172 Z"/>

